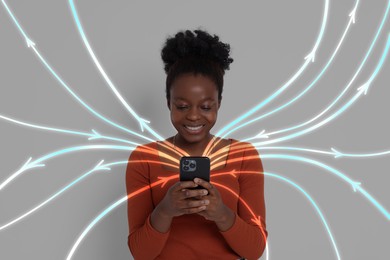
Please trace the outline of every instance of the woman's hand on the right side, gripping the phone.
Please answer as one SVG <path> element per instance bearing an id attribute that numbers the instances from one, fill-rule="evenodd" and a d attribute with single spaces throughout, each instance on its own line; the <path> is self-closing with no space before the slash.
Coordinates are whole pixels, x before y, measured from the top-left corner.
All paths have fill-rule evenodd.
<path id="1" fill-rule="evenodd" d="M 211 220 L 221 225 L 220 229 L 228 229 L 233 225 L 235 214 L 222 201 L 218 190 L 209 182 L 195 178 L 194 182 L 203 188 L 207 189 L 209 194 L 202 196 L 202 200 L 208 200 L 206 209 L 197 214 L 203 216 L 207 220 Z M 227 228 L 226 228 L 227 227 Z"/>

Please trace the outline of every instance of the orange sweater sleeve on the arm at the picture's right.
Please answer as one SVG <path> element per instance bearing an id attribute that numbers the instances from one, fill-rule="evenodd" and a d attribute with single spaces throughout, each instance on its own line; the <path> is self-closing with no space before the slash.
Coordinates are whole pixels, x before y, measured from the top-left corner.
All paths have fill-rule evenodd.
<path id="1" fill-rule="evenodd" d="M 236 219 L 233 226 L 221 234 L 241 257 L 258 259 L 264 252 L 268 237 L 265 224 L 263 165 L 257 150 L 249 143 L 242 159 Z"/>

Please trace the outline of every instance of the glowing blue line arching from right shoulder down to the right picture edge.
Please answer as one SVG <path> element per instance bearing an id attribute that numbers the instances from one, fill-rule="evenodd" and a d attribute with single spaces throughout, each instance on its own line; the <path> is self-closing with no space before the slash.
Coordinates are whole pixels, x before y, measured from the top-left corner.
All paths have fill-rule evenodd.
<path id="1" fill-rule="evenodd" d="M 360 192 L 371 204 L 373 204 L 386 218 L 387 220 L 390 220 L 390 213 L 365 189 L 361 187 L 360 182 L 353 181 L 351 178 L 346 176 L 345 174 L 341 173 L 340 171 L 324 164 L 319 161 L 315 161 L 312 159 L 308 159 L 306 157 L 299 157 L 299 156 L 292 156 L 292 155 L 285 155 L 285 154 L 263 154 L 261 156 L 262 159 L 286 159 L 286 160 L 292 160 L 292 161 L 301 161 L 304 163 L 316 165 L 320 168 L 323 168 L 329 172 L 332 172 L 334 175 L 338 176 L 339 178 L 343 179 L 347 183 L 349 183 L 353 190 L 356 192 Z"/>

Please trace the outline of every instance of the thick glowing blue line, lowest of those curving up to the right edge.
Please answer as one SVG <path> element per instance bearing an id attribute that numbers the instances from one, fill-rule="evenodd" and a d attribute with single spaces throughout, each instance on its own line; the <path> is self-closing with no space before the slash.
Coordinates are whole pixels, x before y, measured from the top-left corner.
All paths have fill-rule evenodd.
<path id="1" fill-rule="evenodd" d="M 390 3 L 390 2 L 389 2 Z M 387 43 L 386 43 L 386 48 L 382 54 L 382 57 L 374 71 L 374 73 L 371 75 L 371 77 L 369 78 L 369 80 L 364 83 L 361 87 L 358 88 L 358 93 L 353 96 L 353 98 L 351 98 L 344 106 L 342 106 L 339 110 L 337 110 L 334 114 L 332 114 L 331 116 L 329 116 L 328 118 L 322 120 L 321 122 L 317 123 L 316 125 L 313 125 L 309 128 L 306 128 L 304 130 L 301 130 L 299 132 L 296 132 L 294 134 L 291 134 L 291 135 L 287 135 L 287 136 L 284 136 L 284 137 L 280 137 L 280 138 L 276 138 L 276 139 L 273 139 L 273 140 L 269 140 L 269 141 L 264 141 L 264 142 L 258 142 L 258 143 L 255 143 L 254 145 L 255 146 L 261 146 L 261 145 L 265 145 L 265 144 L 270 144 L 270 143 L 276 143 L 276 142 L 281 142 L 281 141 L 284 141 L 284 140 L 289 140 L 289 139 L 292 139 L 292 138 L 295 138 L 295 137 L 298 137 L 298 136 L 301 136 L 305 133 L 308 133 L 308 132 L 311 132 L 312 130 L 315 130 L 319 127 L 321 127 L 322 125 L 328 123 L 329 121 L 333 120 L 334 118 L 336 118 L 337 116 L 339 116 L 341 113 L 343 113 L 349 106 L 351 106 L 363 93 L 367 93 L 367 90 L 368 88 L 370 87 L 372 81 L 374 80 L 374 78 L 377 76 L 377 74 L 379 73 L 380 69 L 382 68 L 383 66 L 383 63 L 384 61 L 386 60 L 386 56 L 388 54 L 388 51 L 389 51 L 389 47 L 390 47 L 390 34 L 388 35 L 388 39 L 387 39 Z"/>

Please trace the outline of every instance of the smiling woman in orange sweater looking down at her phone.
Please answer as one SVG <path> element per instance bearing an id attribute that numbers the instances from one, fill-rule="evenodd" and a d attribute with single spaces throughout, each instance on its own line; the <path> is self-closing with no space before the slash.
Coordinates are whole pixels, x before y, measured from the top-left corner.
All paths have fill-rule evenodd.
<path id="1" fill-rule="evenodd" d="M 265 248 L 264 175 L 249 143 L 213 136 L 230 46 L 178 32 L 162 52 L 177 134 L 138 146 L 126 171 L 128 245 L 135 259 L 258 259 Z M 208 156 L 210 183 L 179 179 L 181 156 Z M 193 187 L 200 186 L 200 189 Z"/>

